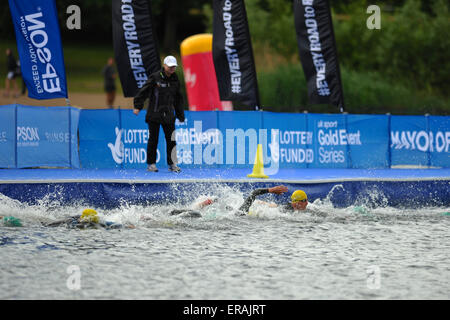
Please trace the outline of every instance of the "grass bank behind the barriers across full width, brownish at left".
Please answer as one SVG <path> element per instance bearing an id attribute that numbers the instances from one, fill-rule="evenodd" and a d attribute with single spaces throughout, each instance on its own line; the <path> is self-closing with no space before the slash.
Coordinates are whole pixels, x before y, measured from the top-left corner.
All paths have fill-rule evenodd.
<path id="1" fill-rule="evenodd" d="M 5 49 L 13 48 L 18 58 L 15 43 L 0 43 L 0 79 L 4 87 L 6 77 Z M 69 92 L 103 93 L 102 69 L 108 57 L 114 56 L 111 46 L 64 44 Z M 306 81 L 299 60 L 260 55 L 255 52 L 258 71 L 260 100 L 264 110 L 273 112 L 335 113 L 330 105 L 308 105 Z M 177 73 L 183 82 L 183 70 Z M 386 80 L 378 72 L 357 72 L 341 66 L 346 111 L 367 114 L 418 114 L 449 115 L 448 98 L 416 91 L 405 79 L 402 82 Z M 122 94 L 117 81 L 118 94 Z M 187 100 L 186 100 L 187 101 Z M 239 107 L 235 107 L 239 109 Z"/>

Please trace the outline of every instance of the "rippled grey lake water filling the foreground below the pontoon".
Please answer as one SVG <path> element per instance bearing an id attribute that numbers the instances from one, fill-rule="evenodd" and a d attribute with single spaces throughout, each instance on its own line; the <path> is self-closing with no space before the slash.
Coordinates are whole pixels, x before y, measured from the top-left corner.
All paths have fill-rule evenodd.
<path id="1" fill-rule="evenodd" d="M 201 218 L 181 204 L 96 208 L 135 229 L 44 227 L 82 204 L 21 204 L 0 194 L 0 299 L 449 299 L 450 208 L 399 209 L 327 200 L 284 213 L 235 190 Z M 203 200 L 204 197 L 196 199 Z"/>

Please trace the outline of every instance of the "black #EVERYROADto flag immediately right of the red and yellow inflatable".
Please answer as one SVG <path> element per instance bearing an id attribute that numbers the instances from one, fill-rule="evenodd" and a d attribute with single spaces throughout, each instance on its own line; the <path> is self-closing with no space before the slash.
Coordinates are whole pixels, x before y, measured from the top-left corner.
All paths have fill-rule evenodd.
<path id="1" fill-rule="evenodd" d="M 258 109 L 258 83 L 244 1 L 214 0 L 213 9 L 213 61 L 220 99 Z"/>

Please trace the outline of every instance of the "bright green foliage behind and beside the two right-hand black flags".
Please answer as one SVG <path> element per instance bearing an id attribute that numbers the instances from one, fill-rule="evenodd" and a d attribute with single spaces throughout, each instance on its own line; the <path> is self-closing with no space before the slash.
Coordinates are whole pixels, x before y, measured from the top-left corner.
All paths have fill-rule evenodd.
<path id="1" fill-rule="evenodd" d="M 367 28 L 367 1 L 339 3 L 332 8 L 333 24 L 347 111 L 450 114 L 448 2 L 385 1 L 379 30 Z M 262 104 L 335 112 L 307 106 L 292 1 L 247 0 L 246 7 Z M 204 11 L 211 26 L 209 5 Z"/>

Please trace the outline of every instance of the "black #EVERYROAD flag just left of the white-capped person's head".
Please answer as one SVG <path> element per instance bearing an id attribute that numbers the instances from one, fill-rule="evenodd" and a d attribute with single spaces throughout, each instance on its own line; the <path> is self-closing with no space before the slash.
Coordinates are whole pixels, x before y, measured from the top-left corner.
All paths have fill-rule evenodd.
<path id="1" fill-rule="evenodd" d="M 149 0 L 113 0 L 112 28 L 123 95 L 134 97 L 161 68 Z"/>

